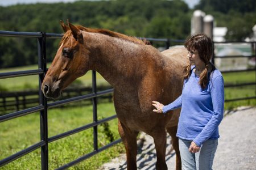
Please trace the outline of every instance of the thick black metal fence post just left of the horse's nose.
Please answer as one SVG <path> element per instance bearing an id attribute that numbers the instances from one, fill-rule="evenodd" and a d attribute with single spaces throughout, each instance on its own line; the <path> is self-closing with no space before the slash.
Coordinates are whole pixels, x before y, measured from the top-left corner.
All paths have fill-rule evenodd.
<path id="1" fill-rule="evenodd" d="M 38 38 L 38 67 L 44 74 L 39 75 L 39 104 L 44 106 L 40 111 L 40 138 L 45 142 L 41 147 L 41 169 L 48 170 L 48 122 L 47 122 L 47 100 L 41 91 L 41 85 L 46 74 L 46 33 L 41 32 L 42 37 Z"/>

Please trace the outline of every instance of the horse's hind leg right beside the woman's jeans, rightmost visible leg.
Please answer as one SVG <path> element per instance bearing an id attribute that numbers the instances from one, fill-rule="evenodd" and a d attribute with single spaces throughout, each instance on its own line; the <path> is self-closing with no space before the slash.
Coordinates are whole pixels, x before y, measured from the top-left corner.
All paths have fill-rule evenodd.
<path id="1" fill-rule="evenodd" d="M 172 137 L 172 147 L 176 152 L 176 170 L 181 170 L 181 158 L 180 158 L 180 150 L 179 150 L 179 138 L 176 137 L 177 126 L 167 128 L 168 133 Z"/>

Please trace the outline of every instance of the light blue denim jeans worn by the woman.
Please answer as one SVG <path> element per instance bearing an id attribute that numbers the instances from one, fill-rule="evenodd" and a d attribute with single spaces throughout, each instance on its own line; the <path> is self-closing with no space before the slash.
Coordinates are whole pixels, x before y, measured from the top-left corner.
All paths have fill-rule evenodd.
<path id="1" fill-rule="evenodd" d="M 181 165 L 183 170 L 208 170 L 212 169 L 214 154 L 217 150 L 218 139 L 205 141 L 200 151 L 193 154 L 188 151 L 192 141 L 179 139 Z"/>

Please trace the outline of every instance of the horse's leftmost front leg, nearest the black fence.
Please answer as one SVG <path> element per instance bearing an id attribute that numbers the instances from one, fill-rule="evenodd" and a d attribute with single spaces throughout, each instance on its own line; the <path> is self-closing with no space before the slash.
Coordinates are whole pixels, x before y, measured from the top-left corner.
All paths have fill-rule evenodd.
<path id="1" fill-rule="evenodd" d="M 137 169 L 137 131 L 126 128 L 118 119 L 118 132 L 126 150 L 127 170 Z"/>

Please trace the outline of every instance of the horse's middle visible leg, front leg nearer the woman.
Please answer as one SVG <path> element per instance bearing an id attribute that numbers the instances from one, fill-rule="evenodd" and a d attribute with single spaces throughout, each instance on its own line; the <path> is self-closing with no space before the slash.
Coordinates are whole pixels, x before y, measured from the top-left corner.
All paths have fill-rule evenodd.
<path id="1" fill-rule="evenodd" d="M 156 169 L 167 169 L 166 165 L 166 130 L 159 129 L 152 134 L 156 150 Z"/>

